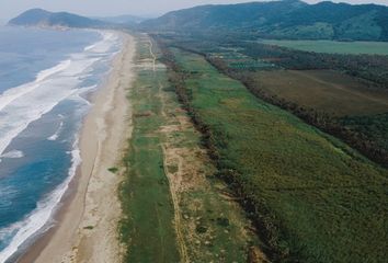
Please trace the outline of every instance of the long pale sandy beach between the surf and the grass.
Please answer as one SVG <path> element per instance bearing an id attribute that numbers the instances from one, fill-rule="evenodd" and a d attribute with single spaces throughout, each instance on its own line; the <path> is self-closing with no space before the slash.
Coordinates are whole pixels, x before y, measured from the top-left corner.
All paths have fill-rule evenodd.
<path id="1" fill-rule="evenodd" d="M 56 216 L 56 227 L 28 250 L 22 263 L 121 261 L 117 187 L 122 179 L 109 168 L 122 160 L 132 133 L 126 95 L 134 78 L 135 43 L 132 36 L 119 34 L 123 49 L 105 84 L 92 96 L 93 106 L 80 134 L 82 163 Z"/>

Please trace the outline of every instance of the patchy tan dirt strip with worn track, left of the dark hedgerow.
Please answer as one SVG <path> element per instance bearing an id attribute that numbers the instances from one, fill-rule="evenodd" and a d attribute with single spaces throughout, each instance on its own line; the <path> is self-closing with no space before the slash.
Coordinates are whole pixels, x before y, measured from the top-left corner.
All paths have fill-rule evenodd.
<path id="1" fill-rule="evenodd" d="M 149 46 L 150 56 L 157 61 L 158 50 L 151 43 Z M 156 65 L 156 68 L 162 67 Z M 207 179 L 213 178 L 216 169 L 201 148 L 201 134 L 181 108 L 175 93 L 167 91 L 170 83 L 158 84 L 157 96 L 164 118 L 159 130 L 163 169 L 174 207 L 181 262 L 247 262 L 252 259 L 251 251 L 260 260 L 250 262 L 266 262 L 255 245 L 254 228 L 239 204 L 224 197 L 227 186 L 216 179 Z"/>

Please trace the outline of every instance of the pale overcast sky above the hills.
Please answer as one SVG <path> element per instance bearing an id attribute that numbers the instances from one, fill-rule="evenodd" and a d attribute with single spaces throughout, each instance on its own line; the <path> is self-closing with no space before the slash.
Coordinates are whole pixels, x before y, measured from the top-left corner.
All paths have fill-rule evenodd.
<path id="1" fill-rule="evenodd" d="M 251 0 L 252 1 L 252 0 Z M 0 20 L 9 20 L 31 8 L 69 11 L 83 15 L 158 15 L 164 12 L 207 3 L 251 2 L 244 0 L 0 0 Z M 305 0 L 317 3 L 321 0 Z M 379 3 L 388 0 L 334 0 L 349 3 Z"/>

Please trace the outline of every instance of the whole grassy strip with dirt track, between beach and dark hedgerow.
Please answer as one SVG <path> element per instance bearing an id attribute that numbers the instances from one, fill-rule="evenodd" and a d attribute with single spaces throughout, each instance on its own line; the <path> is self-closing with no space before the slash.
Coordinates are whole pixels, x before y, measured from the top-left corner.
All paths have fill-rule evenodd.
<path id="1" fill-rule="evenodd" d="M 214 175 L 159 56 L 148 36 L 138 37 L 129 96 L 134 132 L 121 195 L 126 262 L 266 262 L 252 222 Z"/>

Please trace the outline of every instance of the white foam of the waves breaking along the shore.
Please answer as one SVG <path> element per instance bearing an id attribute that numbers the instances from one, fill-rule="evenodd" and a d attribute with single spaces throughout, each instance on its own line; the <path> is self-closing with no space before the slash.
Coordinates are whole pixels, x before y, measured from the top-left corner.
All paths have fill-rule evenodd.
<path id="1" fill-rule="evenodd" d="M 59 102 L 67 99 L 80 100 L 80 94 L 95 87 L 81 88 L 82 77 L 90 73 L 91 67 L 96 61 L 104 61 L 112 57 L 110 54 L 113 47 L 119 42 L 119 36 L 112 32 L 101 33 L 102 41 L 87 47 L 84 53 L 72 54 L 67 60 L 56 67 L 41 71 L 33 82 L 10 89 L 0 94 L 0 156 L 21 156 L 22 152 L 10 151 L 4 153 L 11 141 L 32 122 L 39 119 L 44 114 L 50 112 Z M 82 99 L 84 100 L 84 99 Z M 59 115 L 58 115 L 59 116 Z M 62 118 L 64 116 L 59 116 Z M 47 139 L 55 140 L 59 137 L 62 125 L 59 125 L 54 135 Z M 68 188 L 69 182 L 76 174 L 80 164 L 80 152 L 78 141 L 71 151 L 72 165 L 69 176 L 62 184 L 56 187 L 43 201 L 38 202 L 37 208 L 25 219 L 0 229 L 0 238 L 11 239 L 9 245 L 0 251 L 0 263 L 5 262 L 24 244 L 24 242 L 41 231 L 52 227 L 50 221 L 57 205 Z M 1 164 L 0 164 L 1 165 Z"/>

